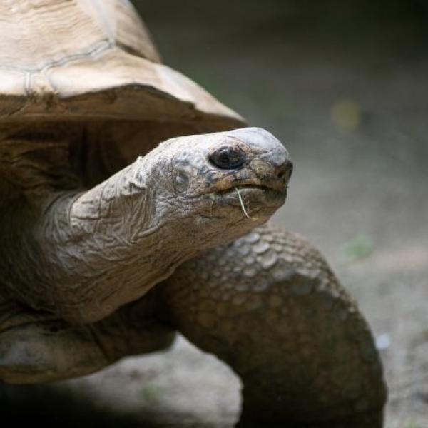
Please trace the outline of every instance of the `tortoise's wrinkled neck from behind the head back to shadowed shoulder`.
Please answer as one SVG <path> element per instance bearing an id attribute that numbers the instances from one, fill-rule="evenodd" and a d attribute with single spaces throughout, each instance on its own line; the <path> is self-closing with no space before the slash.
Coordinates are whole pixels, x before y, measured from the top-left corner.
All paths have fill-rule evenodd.
<path id="1" fill-rule="evenodd" d="M 3 136 L 0 151 L 6 296 L 72 322 L 98 320 L 195 253 L 190 239 L 173 242 L 173 215 L 168 227 L 156 217 L 156 178 L 146 157 L 83 190 L 68 137 L 23 132 Z"/>

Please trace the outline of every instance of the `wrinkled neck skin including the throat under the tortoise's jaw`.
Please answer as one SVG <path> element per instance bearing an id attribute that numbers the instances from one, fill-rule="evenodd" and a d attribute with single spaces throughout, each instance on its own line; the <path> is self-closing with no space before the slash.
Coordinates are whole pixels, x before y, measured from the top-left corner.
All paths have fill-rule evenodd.
<path id="1" fill-rule="evenodd" d="M 9 229 L 1 255 L 9 295 L 70 322 L 100 320 L 183 261 L 267 220 L 249 220 L 236 208 L 212 216 L 200 208 L 208 195 L 175 195 L 170 160 L 161 156 L 167 147 L 88 191 L 60 191 L 50 182 L 19 189 L 18 203 L 1 219 Z"/>

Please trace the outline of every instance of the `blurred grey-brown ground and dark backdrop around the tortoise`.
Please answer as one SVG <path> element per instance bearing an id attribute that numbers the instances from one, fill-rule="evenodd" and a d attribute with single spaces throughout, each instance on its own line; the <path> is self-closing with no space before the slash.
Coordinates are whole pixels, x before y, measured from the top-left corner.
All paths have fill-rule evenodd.
<path id="1" fill-rule="evenodd" d="M 428 2 L 133 4 L 168 66 L 285 143 L 295 173 L 275 223 L 322 250 L 369 320 L 386 427 L 428 428 Z M 39 419 L 56 406 L 63 426 L 232 427 L 239 388 L 180 338 L 28 397 L 1 394 L 16 420 L 26 402 Z"/>

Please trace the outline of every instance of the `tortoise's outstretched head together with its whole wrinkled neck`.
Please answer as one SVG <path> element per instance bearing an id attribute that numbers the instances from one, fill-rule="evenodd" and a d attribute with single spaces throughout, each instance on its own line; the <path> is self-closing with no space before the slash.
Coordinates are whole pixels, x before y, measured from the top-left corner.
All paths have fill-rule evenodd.
<path id="1" fill-rule="evenodd" d="M 0 132 L 0 293 L 68 322 L 102 320 L 285 202 L 290 157 L 260 128 L 171 138 L 90 189 L 73 136 L 54 131 Z M 215 165 L 219 153 L 239 163 Z"/>

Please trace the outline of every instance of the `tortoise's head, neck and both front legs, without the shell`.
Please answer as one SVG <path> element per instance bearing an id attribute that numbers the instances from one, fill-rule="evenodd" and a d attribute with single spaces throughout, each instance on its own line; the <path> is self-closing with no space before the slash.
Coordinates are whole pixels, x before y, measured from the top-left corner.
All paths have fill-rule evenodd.
<path id="1" fill-rule="evenodd" d="M 242 426 L 382 427 L 355 302 L 305 240 L 263 225 L 292 171 L 275 137 L 173 138 L 90 190 L 52 147 L 0 153 L 0 379 L 81 376 L 178 330 L 243 379 Z"/>

